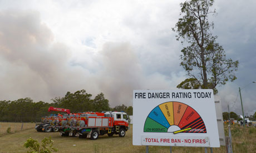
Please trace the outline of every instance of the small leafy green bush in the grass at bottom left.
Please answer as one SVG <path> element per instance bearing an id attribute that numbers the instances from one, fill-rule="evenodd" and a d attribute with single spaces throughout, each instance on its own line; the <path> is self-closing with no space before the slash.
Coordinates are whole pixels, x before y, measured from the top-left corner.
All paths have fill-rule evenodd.
<path id="1" fill-rule="evenodd" d="M 52 147 L 52 145 L 53 140 L 51 139 L 51 137 L 45 137 L 45 139 L 42 140 L 41 147 L 37 140 L 29 137 L 29 139 L 27 139 L 27 142 L 25 142 L 23 146 L 29 148 L 29 151 L 27 151 L 27 153 L 52 153 L 52 151 L 57 152 L 58 149 Z"/>

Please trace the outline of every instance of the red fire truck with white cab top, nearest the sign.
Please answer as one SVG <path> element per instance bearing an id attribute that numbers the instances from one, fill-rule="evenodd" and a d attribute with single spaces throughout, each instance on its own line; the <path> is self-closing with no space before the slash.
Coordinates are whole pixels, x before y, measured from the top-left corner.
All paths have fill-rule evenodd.
<path id="1" fill-rule="evenodd" d="M 124 137 L 129 129 L 128 115 L 124 112 L 107 111 L 105 113 L 86 112 L 63 116 L 55 126 L 62 136 L 79 136 L 96 140 L 99 135 Z"/>

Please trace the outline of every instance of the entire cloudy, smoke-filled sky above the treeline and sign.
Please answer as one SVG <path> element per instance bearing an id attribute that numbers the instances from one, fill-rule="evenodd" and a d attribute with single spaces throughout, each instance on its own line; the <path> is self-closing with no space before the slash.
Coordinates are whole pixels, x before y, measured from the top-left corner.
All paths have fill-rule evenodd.
<path id="1" fill-rule="evenodd" d="M 171 30 L 184 1 L 0 0 L 0 100 L 51 103 L 85 89 L 110 106 L 132 106 L 132 90 L 176 89 L 185 47 Z M 223 111 L 256 111 L 256 1 L 214 2 L 213 35 L 237 80 L 218 86 Z"/>

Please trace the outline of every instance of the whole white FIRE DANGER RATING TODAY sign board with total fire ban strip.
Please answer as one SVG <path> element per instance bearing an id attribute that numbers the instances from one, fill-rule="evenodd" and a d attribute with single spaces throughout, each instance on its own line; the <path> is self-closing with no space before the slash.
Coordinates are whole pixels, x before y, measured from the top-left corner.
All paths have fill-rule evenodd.
<path id="1" fill-rule="evenodd" d="M 133 145 L 220 147 L 211 89 L 134 90 Z"/>

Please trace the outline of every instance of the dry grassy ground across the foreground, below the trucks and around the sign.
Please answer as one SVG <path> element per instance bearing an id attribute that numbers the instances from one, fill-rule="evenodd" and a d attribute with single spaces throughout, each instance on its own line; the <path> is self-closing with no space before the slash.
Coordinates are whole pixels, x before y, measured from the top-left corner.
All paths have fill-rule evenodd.
<path id="1" fill-rule="evenodd" d="M 0 123 L 2 124 L 2 123 Z M 35 126 L 35 124 L 34 124 Z M 225 126 L 225 129 L 227 127 Z M 227 130 L 225 130 L 227 131 Z M 245 128 L 237 125 L 232 126 L 232 144 L 233 152 L 256 152 L 256 127 Z M 95 153 L 112 153 L 112 152 L 128 152 L 137 153 L 145 152 L 145 146 L 132 145 L 132 126 L 126 132 L 125 137 L 114 135 L 108 137 L 107 135 L 100 136 L 97 140 L 79 139 L 78 137 L 62 137 L 58 132 L 37 132 L 35 129 L 24 130 L 16 132 L 15 134 L 6 134 L 0 137 L 0 152 L 26 152 L 27 149 L 23 147 L 24 142 L 29 137 L 41 140 L 44 137 L 52 137 L 53 146 L 58 148 L 58 152 L 95 152 Z M 203 147 L 173 147 L 175 152 L 204 152 Z M 149 146 L 149 152 L 170 152 L 170 147 L 165 146 Z M 210 149 L 208 149 L 210 152 Z M 214 148 L 213 152 L 225 152 L 225 146 Z"/>

